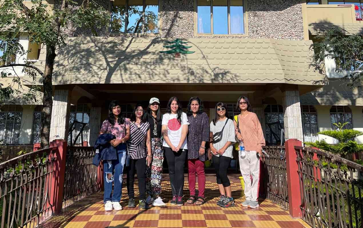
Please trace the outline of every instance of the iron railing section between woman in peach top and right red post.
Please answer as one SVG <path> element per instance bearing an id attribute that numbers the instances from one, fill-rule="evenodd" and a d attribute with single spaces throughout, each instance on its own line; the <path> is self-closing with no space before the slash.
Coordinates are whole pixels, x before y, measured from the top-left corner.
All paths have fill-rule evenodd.
<path id="1" fill-rule="evenodd" d="M 285 146 L 263 147 L 261 177 L 266 198 L 289 209 Z"/>

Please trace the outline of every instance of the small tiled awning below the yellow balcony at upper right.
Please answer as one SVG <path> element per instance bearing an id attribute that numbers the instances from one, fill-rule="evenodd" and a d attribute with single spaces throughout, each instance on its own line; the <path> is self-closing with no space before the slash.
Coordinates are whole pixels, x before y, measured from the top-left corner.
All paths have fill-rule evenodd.
<path id="1" fill-rule="evenodd" d="M 340 27 L 347 31 L 348 34 L 363 34 L 363 23 L 344 23 L 344 24 L 327 24 L 327 23 L 311 23 L 309 32 L 312 35 L 323 33 L 334 27 Z"/>

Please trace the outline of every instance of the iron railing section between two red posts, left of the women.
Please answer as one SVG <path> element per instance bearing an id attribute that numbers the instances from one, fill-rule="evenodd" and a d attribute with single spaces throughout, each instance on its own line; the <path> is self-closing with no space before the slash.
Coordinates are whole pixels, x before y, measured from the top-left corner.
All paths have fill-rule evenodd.
<path id="1" fill-rule="evenodd" d="M 100 191 L 94 155 L 93 147 L 67 147 L 63 207 Z"/>

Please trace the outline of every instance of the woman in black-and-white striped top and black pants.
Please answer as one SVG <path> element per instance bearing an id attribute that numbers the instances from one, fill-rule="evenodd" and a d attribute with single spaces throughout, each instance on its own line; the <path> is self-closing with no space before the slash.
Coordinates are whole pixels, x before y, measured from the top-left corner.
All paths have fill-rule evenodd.
<path id="1" fill-rule="evenodd" d="M 136 105 L 131 115 L 130 139 L 127 141 L 127 152 L 129 156 L 129 166 L 127 167 L 127 194 L 129 195 L 129 206 L 135 207 L 134 198 L 134 177 L 135 169 L 139 180 L 140 201 L 139 207 L 147 209 L 145 200 L 146 165 L 151 164 L 151 140 L 150 124 L 144 115 L 142 105 Z"/>

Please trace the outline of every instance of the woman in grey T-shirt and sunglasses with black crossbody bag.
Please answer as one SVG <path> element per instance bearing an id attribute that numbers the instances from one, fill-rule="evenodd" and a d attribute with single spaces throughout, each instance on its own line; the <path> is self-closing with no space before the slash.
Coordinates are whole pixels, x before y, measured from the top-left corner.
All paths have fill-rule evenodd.
<path id="1" fill-rule="evenodd" d="M 209 143 L 213 154 L 212 161 L 216 170 L 217 184 L 221 194 L 217 205 L 221 207 L 233 207 L 231 183 L 227 176 L 228 166 L 232 159 L 233 143 L 236 142 L 233 121 L 228 119 L 227 105 L 222 102 L 216 105 L 215 118 L 210 125 Z"/>

